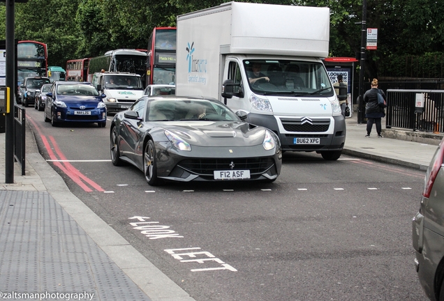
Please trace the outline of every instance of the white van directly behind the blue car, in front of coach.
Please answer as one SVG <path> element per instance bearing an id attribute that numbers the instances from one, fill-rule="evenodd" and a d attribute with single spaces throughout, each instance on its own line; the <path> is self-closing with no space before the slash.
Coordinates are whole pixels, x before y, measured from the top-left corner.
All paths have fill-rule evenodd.
<path id="1" fill-rule="evenodd" d="M 140 75 L 127 72 L 96 72 L 92 84 L 106 95 L 103 99 L 108 113 L 124 111 L 142 97 Z"/>

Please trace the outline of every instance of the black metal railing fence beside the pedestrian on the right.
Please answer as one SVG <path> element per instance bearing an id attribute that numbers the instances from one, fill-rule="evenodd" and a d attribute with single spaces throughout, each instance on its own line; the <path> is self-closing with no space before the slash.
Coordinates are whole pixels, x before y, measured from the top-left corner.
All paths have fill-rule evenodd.
<path id="1" fill-rule="evenodd" d="M 444 90 L 387 89 L 386 128 L 444 132 Z M 424 107 L 416 107 L 422 94 Z"/>

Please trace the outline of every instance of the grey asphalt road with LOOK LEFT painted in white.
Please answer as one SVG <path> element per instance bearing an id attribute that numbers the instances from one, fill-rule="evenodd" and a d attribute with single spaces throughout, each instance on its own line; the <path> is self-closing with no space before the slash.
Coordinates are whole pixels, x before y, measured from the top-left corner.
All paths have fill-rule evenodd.
<path id="1" fill-rule="evenodd" d="M 27 117 L 71 192 L 195 300 L 426 300 L 411 246 L 423 171 L 285 153 L 274 183 L 150 187 L 110 162 L 109 123 Z"/>

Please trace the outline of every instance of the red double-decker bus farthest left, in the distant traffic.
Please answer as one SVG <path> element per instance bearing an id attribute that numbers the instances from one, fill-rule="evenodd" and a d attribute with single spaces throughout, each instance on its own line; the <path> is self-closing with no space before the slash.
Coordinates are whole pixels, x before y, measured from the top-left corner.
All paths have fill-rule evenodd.
<path id="1" fill-rule="evenodd" d="M 17 84 L 25 77 L 47 76 L 47 46 L 34 40 L 17 43 Z"/>

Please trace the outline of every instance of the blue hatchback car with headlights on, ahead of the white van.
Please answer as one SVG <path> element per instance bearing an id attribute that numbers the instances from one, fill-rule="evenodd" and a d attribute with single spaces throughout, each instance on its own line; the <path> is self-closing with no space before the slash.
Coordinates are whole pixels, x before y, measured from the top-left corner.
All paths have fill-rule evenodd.
<path id="1" fill-rule="evenodd" d="M 46 93 L 44 118 L 52 126 L 62 122 L 98 123 L 106 126 L 105 94 L 89 82 L 54 82 Z"/>

